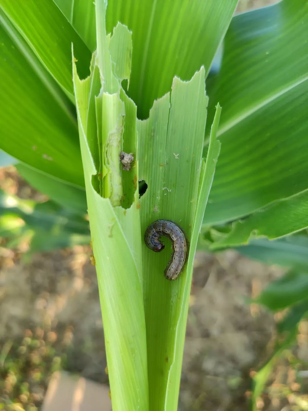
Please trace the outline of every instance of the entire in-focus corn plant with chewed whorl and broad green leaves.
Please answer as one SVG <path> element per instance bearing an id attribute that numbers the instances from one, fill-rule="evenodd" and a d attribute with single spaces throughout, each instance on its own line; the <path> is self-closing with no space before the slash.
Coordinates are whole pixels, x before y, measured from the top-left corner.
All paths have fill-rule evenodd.
<path id="1" fill-rule="evenodd" d="M 0 0 L 0 148 L 65 215 L 66 245 L 88 213 L 113 410 L 177 409 L 197 245 L 308 226 L 306 0 L 236 5 Z M 2 198 L 7 230 L 40 225 Z M 171 243 L 144 241 L 156 220 L 185 232 L 174 281 Z"/>

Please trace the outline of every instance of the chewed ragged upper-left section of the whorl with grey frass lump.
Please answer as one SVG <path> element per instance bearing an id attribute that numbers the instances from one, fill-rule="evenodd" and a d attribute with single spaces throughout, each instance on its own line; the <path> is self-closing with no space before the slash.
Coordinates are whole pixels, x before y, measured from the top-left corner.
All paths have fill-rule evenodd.
<path id="1" fill-rule="evenodd" d="M 79 106 L 96 169 L 92 175 L 93 188 L 103 198 L 110 199 L 113 207 L 125 209 L 138 199 L 132 183 L 138 179 L 138 170 L 131 166 L 133 152 L 137 151 L 136 105 L 121 85 L 124 79 L 129 81 L 131 55 L 131 32 L 118 23 L 113 35 L 103 36 L 98 43 L 92 55 L 90 76 L 80 80 L 77 73 L 74 75 L 78 89 L 83 89 L 76 99 L 87 101 L 87 105 Z"/>

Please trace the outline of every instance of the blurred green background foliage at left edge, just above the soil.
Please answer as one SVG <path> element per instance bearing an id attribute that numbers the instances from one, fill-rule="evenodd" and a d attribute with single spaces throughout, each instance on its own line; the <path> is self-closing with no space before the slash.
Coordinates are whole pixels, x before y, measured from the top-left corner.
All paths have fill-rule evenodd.
<path id="1" fill-rule="evenodd" d="M 72 212 L 53 201 L 37 203 L 0 191 L 0 235 L 9 239 L 6 247 L 30 243 L 30 253 L 89 244 L 89 223 L 85 215 Z"/>

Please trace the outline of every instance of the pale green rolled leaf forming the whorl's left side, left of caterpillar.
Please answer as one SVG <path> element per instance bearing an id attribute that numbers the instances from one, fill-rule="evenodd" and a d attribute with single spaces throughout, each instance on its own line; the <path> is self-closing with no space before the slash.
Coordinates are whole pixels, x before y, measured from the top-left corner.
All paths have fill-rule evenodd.
<path id="1" fill-rule="evenodd" d="M 126 118 L 125 106 L 131 113 L 134 104 L 132 101 L 123 102 L 120 98 L 120 85 L 112 72 L 109 38 L 104 25 L 106 5 L 97 2 L 96 8 L 99 56 L 96 58 L 94 54 L 91 76 L 83 81 L 78 78 L 74 67 L 74 87 L 109 382 L 114 410 L 147 410 L 149 400 L 139 201 L 137 185 L 134 183 L 136 179 L 133 177 L 137 167 L 127 171 L 133 177 L 132 185 L 135 185 L 133 202 L 129 208 L 120 206 L 123 194 L 121 173 L 125 173 L 119 168 L 120 146 L 123 146 L 125 126 L 127 143 L 131 148 L 134 147 L 134 153 L 137 151 L 136 106 L 135 116 Z M 129 36 L 127 29 L 126 35 Z M 118 52 L 121 53 L 120 47 Z M 97 68 L 101 79 L 96 77 Z M 97 141 L 92 125 L 88 122 L 94 113 L 97 116 Z M 98 175 L 99 170 L 101 175 Z"/>

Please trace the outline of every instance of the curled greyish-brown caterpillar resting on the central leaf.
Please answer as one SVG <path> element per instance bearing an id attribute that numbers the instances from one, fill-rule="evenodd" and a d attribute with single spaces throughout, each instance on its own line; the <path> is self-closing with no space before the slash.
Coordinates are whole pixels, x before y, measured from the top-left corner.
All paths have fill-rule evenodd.
<path id="1" fill-rule="evenodd" d="M 170 238 L 173 252 L 171 259 L 165 268 L 165 277 L 175 280 L 183 270 L 188 255 L 189 243 L 184 230 L 175 222 L 170 220 L 156 220 L 145 230 L 145 244 L 149 249 L 160 252 L 165 248 L 159 241 L 161 236 Z"/>

